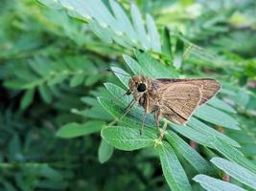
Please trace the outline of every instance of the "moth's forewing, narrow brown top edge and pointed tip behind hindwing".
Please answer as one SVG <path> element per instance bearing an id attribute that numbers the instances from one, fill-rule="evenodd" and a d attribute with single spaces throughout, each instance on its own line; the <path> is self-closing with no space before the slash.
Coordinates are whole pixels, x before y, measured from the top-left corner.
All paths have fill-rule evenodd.
<path id="1" fill-rule="evenodd" d="M 201 90 L 201 101 L 199 105 L 205 103 L 213 96 L 216 96 L 221 89 L 221 84 L 213 78 L 198 78 L 198 79 L 171 79 L 171 78 L 160 78 L 155 80 L 156 83 L 160 84 L 192 84 L 197 85 Z"/>

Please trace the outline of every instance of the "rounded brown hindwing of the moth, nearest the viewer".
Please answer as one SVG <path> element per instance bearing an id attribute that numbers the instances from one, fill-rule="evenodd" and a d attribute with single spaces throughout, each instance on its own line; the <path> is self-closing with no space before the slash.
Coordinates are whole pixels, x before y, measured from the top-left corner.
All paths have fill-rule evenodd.
<path id="1" fill-rule="evenodd" d="M 194 84 L 173 83 L 157 91 L 162 94 L 159 102 L 163 117 L 178 124 L 184 124 L 192 116 L 202 97 Z"/>

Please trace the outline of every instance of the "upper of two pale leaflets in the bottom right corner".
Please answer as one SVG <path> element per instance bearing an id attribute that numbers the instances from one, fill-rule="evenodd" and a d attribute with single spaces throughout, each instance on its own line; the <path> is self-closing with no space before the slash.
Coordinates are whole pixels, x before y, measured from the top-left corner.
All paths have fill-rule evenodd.
<path id="1" fill-rule="evenodd" d="M 221 158 L 213 158 L 211 162 L 235 180 L 239 180 L 247 186 L 256 189 L 256 174 L 245 169 L 243 166 Z"/>

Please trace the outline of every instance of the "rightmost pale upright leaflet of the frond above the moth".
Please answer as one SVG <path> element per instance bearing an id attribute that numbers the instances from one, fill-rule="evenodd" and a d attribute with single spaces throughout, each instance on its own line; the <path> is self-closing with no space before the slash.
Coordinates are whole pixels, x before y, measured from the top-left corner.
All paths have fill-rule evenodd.
<path id="1" fill-rule="evenodd" d="M 150 38 L 151 49 L 154 52 L 161 53 L 160 36 L 157 32 L 156 26 L 150 14 L 146 15 L 146 25 L 148 30 L 148 36 Z"/>

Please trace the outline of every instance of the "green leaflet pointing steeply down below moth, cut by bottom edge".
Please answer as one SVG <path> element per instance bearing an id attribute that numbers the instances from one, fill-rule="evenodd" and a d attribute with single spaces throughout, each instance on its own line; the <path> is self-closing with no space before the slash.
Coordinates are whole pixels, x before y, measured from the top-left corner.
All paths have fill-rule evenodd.
<path id="1" fill-rule="evenodd" d="M 192 190 L 184 169 L 175 156 L 173 148 L 167 142 L 163 141 L 162 145 L 157 146 L 157 150 L 165 179 L 170 188 L 175 191 Z"/>

